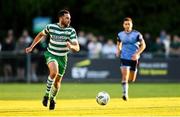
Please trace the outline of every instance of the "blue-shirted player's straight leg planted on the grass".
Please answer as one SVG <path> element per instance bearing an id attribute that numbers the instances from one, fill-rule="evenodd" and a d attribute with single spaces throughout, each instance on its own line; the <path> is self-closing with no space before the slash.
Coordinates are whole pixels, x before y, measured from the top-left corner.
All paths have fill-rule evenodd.
<path id="1" fill-rule="evenodd" d="M 122 90 L 123 90 L 123 100 L 128 99 L 128 78 L 129 78 L 129 67 L 122 66 L 121 67 L 121 74 L 122 74 Z"/>

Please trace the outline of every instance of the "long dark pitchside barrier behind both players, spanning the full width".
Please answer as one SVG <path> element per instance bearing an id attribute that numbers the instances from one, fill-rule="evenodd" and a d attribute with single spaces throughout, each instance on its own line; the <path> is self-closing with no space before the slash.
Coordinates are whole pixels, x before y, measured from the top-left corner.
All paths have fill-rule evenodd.
<path id="1" fill-rule="evenodd" d="M 37 81 L 33 80 L 32 64 L 36 64 Z M 141 59 L 139 62 L 139 82 L 180 82 L 178 58 Z M 6 78 L 5 64 L 11 64 L 13 75 Z M 88 59 L 69 55 L 64 82 L 120 82 L 119 59 Z M 24 78 L 18 78 L 17 69 L 25 70 Z M 23 54 L 0 52 L 0 82 L 45 82 L 48 69 L 43 53 Z"/>

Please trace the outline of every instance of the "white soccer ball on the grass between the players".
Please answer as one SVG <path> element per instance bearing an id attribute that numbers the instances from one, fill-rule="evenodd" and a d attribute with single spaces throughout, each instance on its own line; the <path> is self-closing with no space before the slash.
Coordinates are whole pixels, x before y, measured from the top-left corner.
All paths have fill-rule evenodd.
<path id="1" fill-rule="evenodd" d="M 107 92 L 101 91 L 96 96 L 96 102 L 99 105 L 106 105 L 110 100 L 110 96 Z"/>

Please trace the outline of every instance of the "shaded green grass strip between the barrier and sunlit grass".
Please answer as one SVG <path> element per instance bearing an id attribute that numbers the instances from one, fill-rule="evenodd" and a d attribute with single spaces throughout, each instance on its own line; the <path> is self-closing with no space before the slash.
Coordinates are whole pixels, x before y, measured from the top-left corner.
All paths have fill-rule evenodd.
<path id="1" fill-rule="evenodd" d="M 0 84 L 0 100 L 40 100 L 46 89 L 43 84 Z M 120 83 L 62 83 L 57 99 L 94 99 L 98 92 L 106 91 L 112 98 L 120 98 Z M 129 84 L 129 97 L 180 97 L 179 83 Z"/>

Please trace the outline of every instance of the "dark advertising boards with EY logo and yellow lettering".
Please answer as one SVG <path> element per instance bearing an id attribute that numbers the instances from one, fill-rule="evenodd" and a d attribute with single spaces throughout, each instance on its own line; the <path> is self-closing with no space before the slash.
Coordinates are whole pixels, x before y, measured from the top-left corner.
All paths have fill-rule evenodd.
<path id="1" fill-rule="evenodd" d="M 178 58 L 141 59 L 138 65 L 137 81 L 179 82 L 179 62 Z M 121 78 L 119 65 L 119 59 L 69 58 L 65 78 L 118 82 Z"/>

